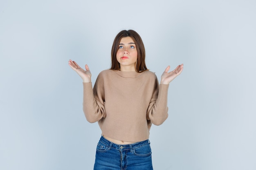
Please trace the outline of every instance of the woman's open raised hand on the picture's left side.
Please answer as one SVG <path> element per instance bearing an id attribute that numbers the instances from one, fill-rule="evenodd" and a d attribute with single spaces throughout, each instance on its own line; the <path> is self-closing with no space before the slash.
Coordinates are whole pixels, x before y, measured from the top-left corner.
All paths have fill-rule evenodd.
<path id="1" fill-rule="evenodd" d="M 68 61 L 68 65 L 83 79 L 84 83 L 91 82 L 92 74 L 87 64 L 85 65 L 85 70 L 72 60 Z"/>

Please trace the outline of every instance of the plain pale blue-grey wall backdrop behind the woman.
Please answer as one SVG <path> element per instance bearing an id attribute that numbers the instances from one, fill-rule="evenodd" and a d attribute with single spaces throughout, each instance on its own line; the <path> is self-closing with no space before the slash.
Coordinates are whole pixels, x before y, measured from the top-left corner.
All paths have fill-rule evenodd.
<path id="1" fill-rule="evenodd" d="M 134 29 L 158 79 L 184 63 L 169 117 L 152 126 L 155 170 L 256 169 L 255 0 L 0 0 L 0 169 L 92 170 L 101 131 L 82 80 L 110 68 Z"/>

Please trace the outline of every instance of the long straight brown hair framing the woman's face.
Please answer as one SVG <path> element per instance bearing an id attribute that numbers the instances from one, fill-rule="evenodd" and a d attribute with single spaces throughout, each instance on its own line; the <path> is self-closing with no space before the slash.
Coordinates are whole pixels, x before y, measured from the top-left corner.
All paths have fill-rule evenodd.
<path id="1" fill-rule="evenodd" d="M 117 34 L 117 36 L 113 42 L 113 45 L 112 45 L 111 68 L 110 69 L 111 70 L 120 70 L 120 64 L 117 61 L 117 50 L 118 50 L 119 43 L 120 43 L 121 39 L 124 37 L 130 37 L 135 42 L 137 53 L 138 53 L 137 66 L 136 66 L 135 70 L 138 73 L 148 70 L 148 68 L 146 67 L 146 63 L 145 63 L 146 53 L 145 53 L 144 44 L 143 44 L 139 34 L 136 31 L 131 30 L 131 29 L 128 31 L 127 30 L 120 31 Z"/>

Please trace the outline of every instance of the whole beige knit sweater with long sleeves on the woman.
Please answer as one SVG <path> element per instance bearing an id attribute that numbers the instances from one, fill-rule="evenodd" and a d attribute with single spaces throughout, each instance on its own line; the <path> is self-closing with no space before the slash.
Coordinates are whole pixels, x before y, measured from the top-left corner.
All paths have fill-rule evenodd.
<path id="1" fill-rule="evenodd" d="M 92 83 L 83 83 L 83 112 L 98 121 L 102 135 L 121 141 L 144 141 L 152 124 L 168 117 L 168 86 L 155 73 L 105 70 Z"/>

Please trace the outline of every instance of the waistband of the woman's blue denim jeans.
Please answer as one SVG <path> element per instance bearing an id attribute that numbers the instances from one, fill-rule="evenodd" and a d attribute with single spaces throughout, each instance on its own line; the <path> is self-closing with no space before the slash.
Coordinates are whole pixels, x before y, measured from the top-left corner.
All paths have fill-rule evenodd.
<path id="1" fill-rule="evenodd" d="M 115 149 L 119 149 L 119 150 L 126 150 L 126 149 L 132 150 L 132 148 L 135 149 L 135 148 L 150 144 L 149 139 L 147 139 L 145 141 L 140 141 L 140 142 L 136 142 L 136 143 L 133 143 L 133 144 L 119 145 L 119 144 L 115 144 L 115 143 L 109 141 L 108 139 L 106 139 L 103 136 L 101 136 L 99 142 L 108 146 L 108 149 L 115 148 Z"/>

